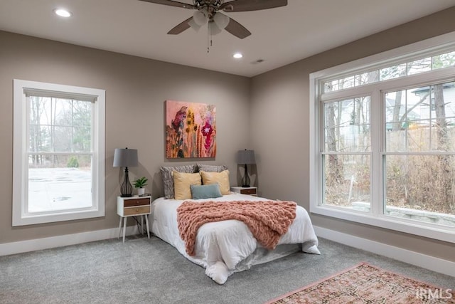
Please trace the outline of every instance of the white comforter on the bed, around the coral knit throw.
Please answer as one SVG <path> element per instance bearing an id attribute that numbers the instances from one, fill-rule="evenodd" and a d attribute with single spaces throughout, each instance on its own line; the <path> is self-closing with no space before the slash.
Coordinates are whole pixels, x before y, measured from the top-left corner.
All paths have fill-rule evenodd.
<path id="1" fill-rule="evenodd" d="M 199 201 L 264 201 L 267 199 L 245 194 L 229 194 L 217 199 Z M 296 219 L 287 234 L 279 241 L 274 251 L 268 251 L 257 243 L 242 221 L 229 220 L 203 224 L 196 236 L 196 256 L 188 256 L 185 242 L 178 234 L 177 208 L 183 201 L 160 197 L 152 202 L 149 221 L 151 231 L 160 239 L 170 243 L 188 260 L 205 268 L 205 274 L 218 284 L 223 284 L 232 273 L 244 271 L 252 265 L 271 261 L 301 250 L 319 254 L 318 239 L 314 234 L 308 212 L 297 206 Z"/>

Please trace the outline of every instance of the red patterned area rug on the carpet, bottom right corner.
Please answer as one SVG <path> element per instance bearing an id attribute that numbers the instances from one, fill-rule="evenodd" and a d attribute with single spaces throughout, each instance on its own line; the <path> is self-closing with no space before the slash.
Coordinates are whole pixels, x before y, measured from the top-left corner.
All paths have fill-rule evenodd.
<path id="1" fill-rule="evenodd" d="M 282 303 L 455 303 L 455 290 L 438 288 L 360 263 L 267 304 Z"/>

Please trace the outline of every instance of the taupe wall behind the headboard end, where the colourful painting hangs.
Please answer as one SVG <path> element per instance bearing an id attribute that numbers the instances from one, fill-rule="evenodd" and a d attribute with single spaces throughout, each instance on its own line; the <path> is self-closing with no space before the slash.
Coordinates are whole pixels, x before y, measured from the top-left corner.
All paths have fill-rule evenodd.
<path id="1" fill-rule="evenodd" d="M 237 184 L 235 154 L 248 143 L 250 78 L 152 61 L 0 31 L 0 243 L 39 239 L 118 227 L 117 195 L 123 175 L 112 167 L 114 149 L 139 150 L 139 167 L 130 179 L 146 176 L 148 190 L 161 196 L 164 157 L 164 101 L 210 103 L 217 110 L 217 157 Z M 77 85 L 106 90 L 106 216 L 53 224 L 11 226 L 13 176 L 13 79 Z M 190 160 L 196 163 L 196 160 Z M 201 162 L 198 160 L 198 162 Z"/>

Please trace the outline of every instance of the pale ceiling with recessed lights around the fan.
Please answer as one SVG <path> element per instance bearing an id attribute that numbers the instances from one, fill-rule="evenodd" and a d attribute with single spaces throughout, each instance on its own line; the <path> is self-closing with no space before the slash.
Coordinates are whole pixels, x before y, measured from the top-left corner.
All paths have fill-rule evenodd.
<path id="1" fill-rule="evenodd" d="M 455 0 L 288 2 L 226 13 L 252 35 L 241 40 L 223 31 L 213 36 L 210 53 L 205 28 L 166 35 L 192 10 L 139 0 L 0 0 L 0 30 L 251 77 L 455 6 Z M 55 8 L 73 17 L 55 16 Z M 237 51 L 244 54 L 240 60 L 232 58 Z M 264 62 L 255 63 L 259 59 Z"/>

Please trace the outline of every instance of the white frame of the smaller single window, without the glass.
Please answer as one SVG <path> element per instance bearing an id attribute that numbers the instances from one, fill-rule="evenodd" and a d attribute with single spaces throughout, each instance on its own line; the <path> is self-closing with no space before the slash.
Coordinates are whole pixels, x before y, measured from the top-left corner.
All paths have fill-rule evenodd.
<path id="1" fill-rule="evenodd" d="M 14 79 L 14 142 L 13 142 L 13 226 L 43 224 L 105 216 L 105 90 L 73 85 L 41 83 Z M 92 100 L 92 206 L 43 213 L 28 213 L 28 135 L 26 92 L 52 92 L 62 98 Z"/>

